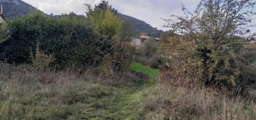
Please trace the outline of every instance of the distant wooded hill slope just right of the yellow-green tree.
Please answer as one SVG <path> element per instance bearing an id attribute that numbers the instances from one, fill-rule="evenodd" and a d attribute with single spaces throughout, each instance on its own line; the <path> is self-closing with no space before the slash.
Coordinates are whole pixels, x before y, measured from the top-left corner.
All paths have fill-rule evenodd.
<path id="1" fill-rule="evenodd" d="M 135 29 L 138 30 L 138 32 L 141 32 L 141 33 L 146 32 L 150 37 L 156 38 L 163 33 L 162 30 L 157 30 L 142 20 L 136 19 L 134 17 L 128 16 L 125 14 L 122 14 L 122 16 L 124 19 L 127 19 L 128 21 L 130 21 L 134 25 Z"/>

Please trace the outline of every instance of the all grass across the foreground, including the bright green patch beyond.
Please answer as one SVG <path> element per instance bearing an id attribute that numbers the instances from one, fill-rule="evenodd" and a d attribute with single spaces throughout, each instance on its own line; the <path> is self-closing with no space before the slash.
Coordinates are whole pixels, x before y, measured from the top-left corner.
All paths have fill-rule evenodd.
<path id="1" fill-rule="evenodd" d="M 141 72 L 159 75 L 141 67 Z M 90 72 L 37 71 L 3 63 L 0 79 L 2 120 L 256 120 L 252 98 L 166 86 L 155 79 L 102 79 Z"/>

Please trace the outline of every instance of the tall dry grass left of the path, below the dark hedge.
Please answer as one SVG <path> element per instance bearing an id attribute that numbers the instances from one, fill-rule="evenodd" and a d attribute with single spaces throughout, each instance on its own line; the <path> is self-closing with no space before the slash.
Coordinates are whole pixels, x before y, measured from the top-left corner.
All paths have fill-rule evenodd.
<path id="1" fill-rule="evenodd" d="M 94 118 L 111 108 L 115 89 L 141 80 L 139 73 L 103 75 L 97 69 L 54 71 L 0 63 L 0 120 Z"/>

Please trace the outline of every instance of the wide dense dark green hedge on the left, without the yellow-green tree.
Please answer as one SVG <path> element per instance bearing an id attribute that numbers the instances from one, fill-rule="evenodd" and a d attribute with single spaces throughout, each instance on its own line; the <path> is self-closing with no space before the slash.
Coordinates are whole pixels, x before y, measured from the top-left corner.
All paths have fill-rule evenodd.
<path id="1" fill-rule="evenodd" d="M 34 52 L 37 41 L 45 54 L 54 53 L 53 65 L 59 68 L 93 65 L 111 51 L 110 42 L 74 13 L 55 19 L 35 12 L 8 22 L 7 29 L 10 37 L 0 44 L 0 60 L 8 63 L 30 63 L 29 48 Z"/>

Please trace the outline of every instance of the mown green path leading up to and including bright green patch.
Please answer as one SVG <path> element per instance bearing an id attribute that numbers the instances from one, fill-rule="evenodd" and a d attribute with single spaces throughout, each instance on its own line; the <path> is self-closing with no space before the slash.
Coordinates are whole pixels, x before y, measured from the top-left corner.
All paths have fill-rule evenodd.
<path id="1" fill-rule="evenodd" d="M 103 119 L 121 119 L 121 120 L 135 120 L 143 119 L 146 114 L 147 103 L 145 100 L 147 93 L 155 88 L 156 77 L 161 74 L 158 69 L 152 69 L 141 63 L 132 63 L 131 69 L 142 72 L 151 76 L 151 80 L 144 80 L 132 86 L 123 86 L 115 90 L 115 98 L 112 101 L 112 107 L 109 109 L 113 113 L 109 113 L 108 117 L 96 117 L 93 120 Z"/>

